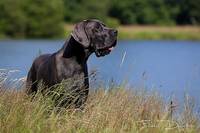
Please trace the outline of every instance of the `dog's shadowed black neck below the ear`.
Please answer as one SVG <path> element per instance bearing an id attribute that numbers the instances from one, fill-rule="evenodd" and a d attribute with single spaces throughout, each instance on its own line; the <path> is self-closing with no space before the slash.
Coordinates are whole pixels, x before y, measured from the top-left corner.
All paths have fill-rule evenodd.
<path id="1" fill-rule="evenodd" d="M 83 45 L 77 42 L 72 36 L 62 49 L 64 50 L 64 58 L 74 57 L 80 64 L 86 63 L 89 56 L 93 53 L 93 50 L 84 48 Z"/>

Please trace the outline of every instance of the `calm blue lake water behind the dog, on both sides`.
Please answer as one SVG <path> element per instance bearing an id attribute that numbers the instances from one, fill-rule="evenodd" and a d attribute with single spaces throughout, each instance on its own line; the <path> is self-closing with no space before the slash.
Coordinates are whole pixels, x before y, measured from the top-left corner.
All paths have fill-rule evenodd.
<path id="1" fill-rule="evenodd" d="M 53 53 L 64 40 L 0 41 L 0 69 L 17 69 L 27 75 L 32 61 L 41 53 Z M 110 55 L 88 61 L 97 78 L 158 90 L 165 97 L 182 99 L 184 92 L 200 103 L 200 42 L 195 41 L 119 41 Z"/>

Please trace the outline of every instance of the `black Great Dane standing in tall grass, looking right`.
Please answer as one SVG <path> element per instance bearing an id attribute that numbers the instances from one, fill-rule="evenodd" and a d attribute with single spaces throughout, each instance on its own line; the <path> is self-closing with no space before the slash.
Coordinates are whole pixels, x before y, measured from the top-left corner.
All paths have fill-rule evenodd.
<path id="1" fill-rule="evenodd" d="M 84 20 L 76 24 L 70 38 L 59 51 L 34 60 L 27 76 L 27 93 L 37 92 L 39 81 L 48 88 L 66 79 L 79 80 L 79 85 L 74 89 L 79 99 L 75 106 L 80 107 L 89 91 L 88 57 L 93 52 L 97 57 L 105 56 L 116 43 L 117 30 L 106 27 L 99 20 Z"/>

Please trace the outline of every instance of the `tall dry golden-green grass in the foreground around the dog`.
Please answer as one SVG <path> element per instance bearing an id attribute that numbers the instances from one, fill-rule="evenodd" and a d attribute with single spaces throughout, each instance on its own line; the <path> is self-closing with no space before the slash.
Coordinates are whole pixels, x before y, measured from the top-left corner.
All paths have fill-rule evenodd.
<path id="1" fill-rule="evenodd" d="M 186 98 L 184 108 L 163 101 L 157 92 L 113 86 L 91 89 L 84 109 L 56 107 L 52 95 L 27 96 L 0 85 L 0 132 L 198 133 L 200 123 Z M 62 88 L 62 87 L 61 87 Z M 52 93 L 51 93 L 52 94 Z"/>

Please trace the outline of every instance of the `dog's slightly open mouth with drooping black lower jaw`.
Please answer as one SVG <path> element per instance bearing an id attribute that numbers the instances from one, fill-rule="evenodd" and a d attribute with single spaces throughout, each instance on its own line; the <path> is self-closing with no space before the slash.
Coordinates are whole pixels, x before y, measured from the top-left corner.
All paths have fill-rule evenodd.
<path id="1" fill-rule="evenodd" d="M 108 55 L 116 46 L 117 40 L 114 41 L 114 43 L 108 47 L 100 48 L 95 50 L 95 54 L 97 57 Z"/>

